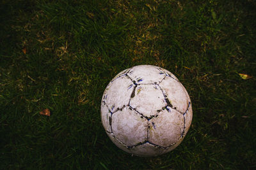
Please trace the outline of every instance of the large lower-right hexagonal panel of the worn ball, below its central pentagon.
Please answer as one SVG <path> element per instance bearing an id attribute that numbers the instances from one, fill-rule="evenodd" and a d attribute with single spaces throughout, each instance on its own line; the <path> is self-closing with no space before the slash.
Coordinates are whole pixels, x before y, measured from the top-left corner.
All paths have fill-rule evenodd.
<path id="1" fill-rule="evenodd" d="M 158 117 L 150 119 L 148 123 L 148 141 L 163 147 L 179 141 L 184 129 L 183 115 L 172 108 L 161 111 Z"/>

